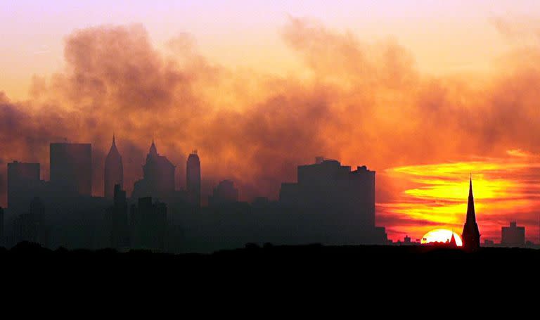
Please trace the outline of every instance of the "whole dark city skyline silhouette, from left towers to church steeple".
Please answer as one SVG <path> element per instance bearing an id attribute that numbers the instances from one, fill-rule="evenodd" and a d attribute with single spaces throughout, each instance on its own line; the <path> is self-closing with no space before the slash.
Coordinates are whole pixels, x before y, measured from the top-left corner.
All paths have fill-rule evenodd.
<path id="1" fill-rule="evenodd" d="M 91 143 L 50 143 L 50 154 L 50 181 L 41 179 L 39 163 L 8 164 L 10 215 L 7 228 L 4 211 L 1 215 L 4 244 L 30 241 L 44 247 L 75 248 L 75 243 L 82 243 L 94 249 L 212 252 L 240 248 L 243 243 L 394 243 L 388 239 L 385 226 L 375 223 L 375 172 L 366 165 L 352 170 L 338 160 L 317 156 L 313 164 L 297 167 L 297 182 L 281 184 L 278 200 L 257 197 L 251 203 L 241 202 L 234 181 L 226 179 L 201 206 L 202 165 L 197 151 L 186 161 L 186 189 L 176 189 L 175 166 L 158 153 L 153 140 L 142 165 L 143 178 L 127 196 L 122 189 L 122 155 L 113 135 L 104 170 L 104 190 L 114 181 L 112 199 L 106 193 L 101 197 L 89 193 Z M 475 252 L 481 242 L 472 174 L 468 192 L 459 247 L 463 241 L 464 250 Z M 71 222 L 62 221 L 66 217 Z M 89 233 L 82 236 L 77 229 Z M 424 236 L 422 243 L 459 248 L 453 231 L 449 238 L 437 234 L 441 233 L 428 236 L 431 240 Z M 516 226 L 516 222 L 502 226 L 501 235 L 501 245 L 532 246 L 530 241 L 525 243 L 525 227 Z M 403 243 L 395 244 L 420 243 L 405 236 Z M 493 246 L 494 241 L 486 240 L 483 245 Z"/>

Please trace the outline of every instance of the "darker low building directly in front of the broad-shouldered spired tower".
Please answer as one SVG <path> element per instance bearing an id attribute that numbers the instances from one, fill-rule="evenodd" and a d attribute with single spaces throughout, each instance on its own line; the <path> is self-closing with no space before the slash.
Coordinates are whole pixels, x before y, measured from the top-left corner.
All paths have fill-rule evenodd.
<path id="1" fill-rule="evenodd" d="M 151 197 L 139 198 L 138 206 L 131 205 L 131 243 L 134 248 L 165 249 L 167 205 Z"/>

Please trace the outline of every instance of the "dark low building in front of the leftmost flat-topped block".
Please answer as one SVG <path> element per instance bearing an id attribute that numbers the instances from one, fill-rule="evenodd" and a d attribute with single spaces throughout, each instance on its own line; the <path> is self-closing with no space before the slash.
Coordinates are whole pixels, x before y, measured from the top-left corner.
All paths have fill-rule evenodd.
<path id="1" fill-rule="evenodd" d="M 30 212 L 18 215 L 13 220 L 13 238 L 15 243 L 29 241 L 49 245 L 48 232 L 44 225 L 45 207 L 39 198 L 30 202 Z"/>

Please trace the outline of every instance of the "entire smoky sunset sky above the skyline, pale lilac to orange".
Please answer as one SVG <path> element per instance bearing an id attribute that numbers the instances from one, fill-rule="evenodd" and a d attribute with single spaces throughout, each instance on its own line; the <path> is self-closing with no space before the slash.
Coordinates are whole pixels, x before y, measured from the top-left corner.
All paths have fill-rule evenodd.
<path id="1" fill-rule="evenodd" d="M 482 238 L 539 241 L 537 1 L 12 1 L 0 4 L 0 204 L 6 163 L 112 133 L 126 187 L 152 134 L 184 186 L 276 198 L 316 155 L 377 172 L 390 238 L 461 229 L 473 174 Z"/>

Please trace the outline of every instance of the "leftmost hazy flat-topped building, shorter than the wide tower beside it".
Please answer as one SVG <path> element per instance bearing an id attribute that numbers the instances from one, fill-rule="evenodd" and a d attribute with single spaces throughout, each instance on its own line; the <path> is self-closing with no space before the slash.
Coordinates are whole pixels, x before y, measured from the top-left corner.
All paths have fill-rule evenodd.
<path id="1" fill-rule="evenodd" d="M 28 210 L 30 200 L 39 196 L 39 163 L 8 163 L 8 207 L 14 212 Z"/>

